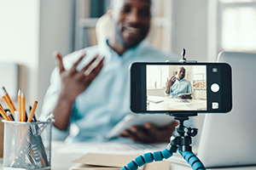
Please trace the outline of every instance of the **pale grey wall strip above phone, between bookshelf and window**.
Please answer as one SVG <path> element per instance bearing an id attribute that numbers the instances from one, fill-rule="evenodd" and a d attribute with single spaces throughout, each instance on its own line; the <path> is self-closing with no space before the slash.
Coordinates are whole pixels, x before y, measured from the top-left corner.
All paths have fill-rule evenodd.
<path id="1" fill-rule="evenodd" d="M 206 0 L 172 0 L 172 52 L 186 59 L 207 61 Z"/>

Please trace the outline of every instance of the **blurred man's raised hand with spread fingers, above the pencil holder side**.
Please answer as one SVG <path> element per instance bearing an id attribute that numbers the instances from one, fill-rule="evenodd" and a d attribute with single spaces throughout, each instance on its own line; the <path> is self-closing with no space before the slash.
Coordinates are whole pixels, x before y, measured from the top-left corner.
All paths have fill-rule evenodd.
<path id="1" fill-rule="evenodd" d="M 74 63 L 70 70 L 66 71 L 61 54 L 55 53 L 55 58 L 59 60 L 59 68 L 60 68 L 60 75 L 61 75 L 61 96 L 69 101 L 74 101 L 76 97 L 83 93 L 84 90 L 90 85 L 90 82 L 98 75 L 98 73 L 102 70 L 103 66 L 103 59 L 104 57 L 99 57 L 97 54 L 94 59 L 90 61 L 88 65 L 85 65 L 81 71 L 77 71 L 77 66 L 79 65 L 80 61 L 84 59 L 85 54 Z M 90 70 L 90 66 L 95 61 L 97 65 Z"/>

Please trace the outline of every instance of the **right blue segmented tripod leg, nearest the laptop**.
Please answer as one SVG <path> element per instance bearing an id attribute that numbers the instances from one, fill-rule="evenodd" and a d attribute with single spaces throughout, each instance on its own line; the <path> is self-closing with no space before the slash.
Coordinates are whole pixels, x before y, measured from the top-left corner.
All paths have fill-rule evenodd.
<path id="1" fill-rule="evenodd" d="M 192 151 L 179 151 L 179 154 L 183 156 L 193 170 L 206 170 L 206 167 L 202 164 L 198 157 Z"/>

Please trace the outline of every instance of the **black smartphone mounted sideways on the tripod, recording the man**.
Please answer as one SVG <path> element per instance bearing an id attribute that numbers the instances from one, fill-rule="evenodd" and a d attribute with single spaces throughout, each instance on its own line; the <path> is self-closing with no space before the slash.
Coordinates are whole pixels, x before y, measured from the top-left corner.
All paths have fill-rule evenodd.
<path id="1" fill-rule="evenodd" d="M 170 82 L 172 77 L 176 78 Z M 227 63 L 133 63 L 130 80 L 135 113 L 226 113 L 232 109 Z"/>

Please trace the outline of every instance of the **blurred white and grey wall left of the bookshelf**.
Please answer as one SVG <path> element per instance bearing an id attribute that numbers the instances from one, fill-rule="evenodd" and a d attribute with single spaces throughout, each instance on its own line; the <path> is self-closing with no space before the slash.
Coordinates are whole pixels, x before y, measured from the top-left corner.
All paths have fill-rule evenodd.
<path id="1" fill-rule="evenodd" d="M 38 100 L 38 114 L 55 67 L 53 51 L 65 55 L 73 50 L 73 4 L 73 0 L 0 0 L 0 62 L 25 67 L 21 78 L 26 82 L 22 87 L 26 105 Z"/>

